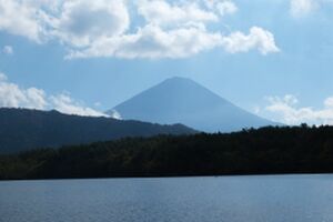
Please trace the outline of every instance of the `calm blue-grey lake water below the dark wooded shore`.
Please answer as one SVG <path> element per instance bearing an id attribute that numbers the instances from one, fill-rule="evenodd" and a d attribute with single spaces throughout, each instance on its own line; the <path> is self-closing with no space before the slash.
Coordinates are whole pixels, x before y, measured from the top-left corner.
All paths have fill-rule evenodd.
<path id="1" fill-rule="evenodd" d="M 333 175 L 0 182 L 2 222 L 333 221 Z"/>

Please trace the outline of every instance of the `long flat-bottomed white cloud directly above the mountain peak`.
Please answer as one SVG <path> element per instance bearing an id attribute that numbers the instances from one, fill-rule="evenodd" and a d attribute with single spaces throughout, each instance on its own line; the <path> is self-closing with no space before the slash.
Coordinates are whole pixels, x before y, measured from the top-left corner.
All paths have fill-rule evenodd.
<path id="1" fill-rule="evenodd" d="M 204 28 L 164 31 L 158 26 L 147 26 L 135 34 L 104 39 L 83 51 L 73 51 L 70 58 L 184 58 L 214 48 L 219 42 L 221 36 L 208 33 Z"/>

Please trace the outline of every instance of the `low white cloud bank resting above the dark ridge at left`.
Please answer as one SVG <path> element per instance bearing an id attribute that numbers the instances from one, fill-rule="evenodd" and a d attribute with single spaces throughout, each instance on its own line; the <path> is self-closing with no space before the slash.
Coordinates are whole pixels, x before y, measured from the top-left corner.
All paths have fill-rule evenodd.
<path id="1" fill-rule="evenodd" d="M 65 93 L 47 95 L 41 89 L 22 89 L 18 84 L 9 82 L 6 74 L 0 73 L 0 108 L 4 107 L 38 110 L 56 109 L 67 114 L 78 115 L 105 115 L 104 113 L 80 104 Z"/>

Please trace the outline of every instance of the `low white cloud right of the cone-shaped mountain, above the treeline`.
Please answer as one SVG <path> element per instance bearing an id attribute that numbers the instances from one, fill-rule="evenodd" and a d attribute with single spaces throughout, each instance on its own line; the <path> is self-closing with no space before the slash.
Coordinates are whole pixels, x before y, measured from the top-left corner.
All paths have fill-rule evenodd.
<path id="1" fill-rule="evenodd" d="M 296 97 L 287 94 L 283 98 L 269 97 L 270 104 L 265 107 L 265 112 L 278 115 L 276 121 L 286 124 L 333 124 L 333 97 L 329 97 L 323 102 L 322 109 L 311 107 L 299 108 Z"/>

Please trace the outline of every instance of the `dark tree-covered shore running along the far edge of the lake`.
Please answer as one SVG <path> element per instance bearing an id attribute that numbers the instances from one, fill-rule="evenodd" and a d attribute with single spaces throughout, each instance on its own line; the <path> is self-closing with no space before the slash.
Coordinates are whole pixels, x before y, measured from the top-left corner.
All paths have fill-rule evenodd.
<path id="1" fill-rule="evenodd" d="M 333 172 L 333 127 L 127 138 L 0 157 L 0 179 Z"/>

